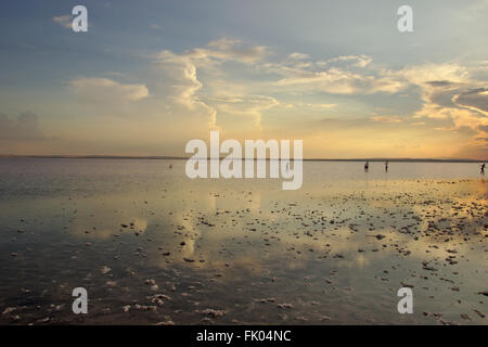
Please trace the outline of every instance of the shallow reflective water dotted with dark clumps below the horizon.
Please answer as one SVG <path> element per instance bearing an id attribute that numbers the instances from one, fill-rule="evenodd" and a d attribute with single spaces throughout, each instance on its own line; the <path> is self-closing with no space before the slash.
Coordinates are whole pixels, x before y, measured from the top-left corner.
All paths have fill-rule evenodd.
<path id="1" fill-rule="evenodd" d="M 476 164 L 305 162 L 297 191 L 184 164 L 0 159 L 0 323 L 487 324 Z"/>

